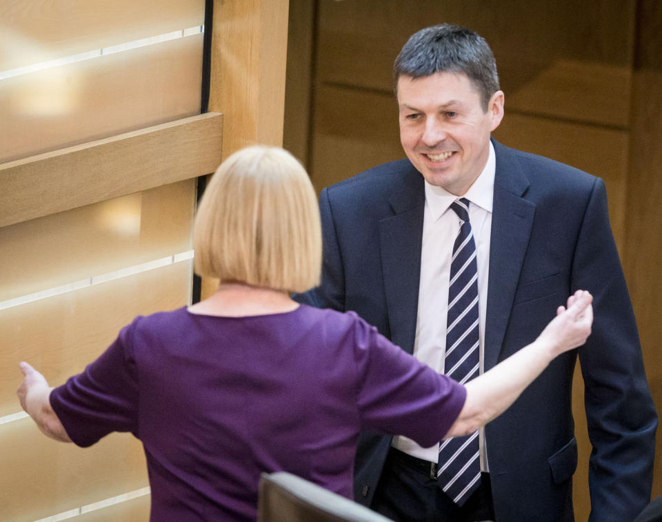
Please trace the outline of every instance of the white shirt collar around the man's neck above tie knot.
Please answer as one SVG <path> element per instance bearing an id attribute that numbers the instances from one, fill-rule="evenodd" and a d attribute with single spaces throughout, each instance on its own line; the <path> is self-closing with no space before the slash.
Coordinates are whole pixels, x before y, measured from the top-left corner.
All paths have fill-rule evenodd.
<path id="1" fill-rule="evenodd" d="M 494 154 L 494 145 L 490 141 L 490 151 L 488 161 L 479 177 L 470 186 L 464 198 L 468 199 L 474 205 L 478 205 L 492 213 L 492 202 L 494 201 L 494 175 L 496 173 L 496 154 Z M 437 221 L 448 208 L 450 204 L 457 199 L 457 196 L 447 190 L 430 185 L 425 181 L 425 204 L 428 205 L 432 221 Z"/>

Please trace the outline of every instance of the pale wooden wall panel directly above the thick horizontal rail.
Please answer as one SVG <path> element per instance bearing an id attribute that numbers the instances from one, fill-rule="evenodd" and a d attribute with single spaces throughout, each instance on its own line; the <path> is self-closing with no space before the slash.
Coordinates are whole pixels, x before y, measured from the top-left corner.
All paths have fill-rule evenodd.
<path id="1" fill-rule="evenodd" d="M 196 34 L 1 80 L 0 162 L 199 114 L 202 43 Z"/>

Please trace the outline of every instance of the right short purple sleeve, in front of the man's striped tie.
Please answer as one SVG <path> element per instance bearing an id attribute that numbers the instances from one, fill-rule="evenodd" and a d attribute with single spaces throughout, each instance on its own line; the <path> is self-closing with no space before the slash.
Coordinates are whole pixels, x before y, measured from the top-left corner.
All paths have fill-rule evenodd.
<path id="1" fill-rule="evenodd" d="M 363 428 L 439 442 L 459 415 L 465 388 L 412 357 L 362 320 L 355 329 Z"/>

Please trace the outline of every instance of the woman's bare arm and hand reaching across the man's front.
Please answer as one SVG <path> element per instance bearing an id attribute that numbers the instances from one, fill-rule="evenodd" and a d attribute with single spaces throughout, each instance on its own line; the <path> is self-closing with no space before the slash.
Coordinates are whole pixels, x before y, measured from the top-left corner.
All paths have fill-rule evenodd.
<path id="1" fill-rule="evenodd" d="M 568 309 L 559 306 L 556 317 L 538 339 L 466 383 L 464 406 L 445 438 L 473 433 L 499 416 L 547 368 L 552 359 L 583 345 L 591 333 L 592 300 L 589 292 L 577 290 L 568 298 Z"/>

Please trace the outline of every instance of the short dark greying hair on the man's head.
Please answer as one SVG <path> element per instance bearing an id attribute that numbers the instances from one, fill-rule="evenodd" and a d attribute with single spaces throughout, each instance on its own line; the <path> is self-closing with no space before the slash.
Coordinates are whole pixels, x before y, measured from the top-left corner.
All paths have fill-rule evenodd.
<path id="1" fill-rule="evenodd" d="M 436 72 L 466 74 L 480 94 L 484 111 L 499 90 L 494 54 L 487 41 L 470 29 L 442 23 L 412 34 L 393 64 L 396 95 L 401 76 L 417 79 Z"/>

